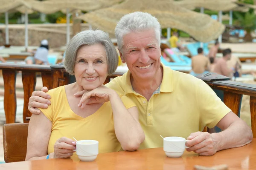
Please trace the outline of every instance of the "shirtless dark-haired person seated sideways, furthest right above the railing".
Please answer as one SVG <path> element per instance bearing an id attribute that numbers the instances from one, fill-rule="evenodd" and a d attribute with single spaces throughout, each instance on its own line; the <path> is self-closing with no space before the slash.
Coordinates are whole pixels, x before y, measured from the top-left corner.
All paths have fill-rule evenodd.
<path id="1" fill-rule="evenodd" d="M 231 49 L 224 49 L 222 53 L 223 53 L 223 58 L 219 58 L 216 61 L 214 69 L 212 70 L 212 72 L 215 72 L 219 75 L 224 75 L 224 76 L 227 76 L 227 77 L 230 77 L 230 75 L 232 75 L 231 76 L 231 78 L 232 78 L 233 73 L 235 73 L 238 69 L 237 68 L 238 64 L 235 64 L 235 67 L 228 68 L 227 61 L 229 61 L 230 58 L 231 58 Z"/>

